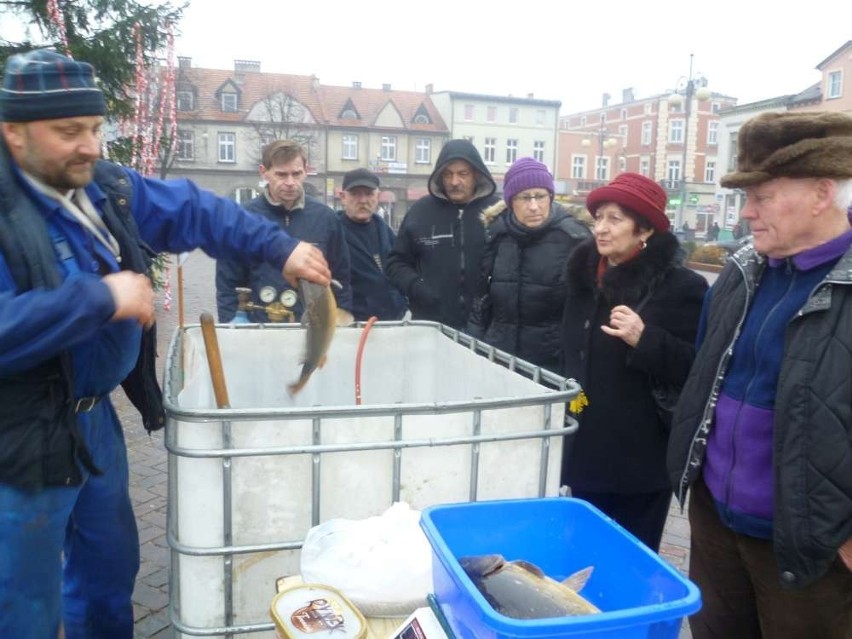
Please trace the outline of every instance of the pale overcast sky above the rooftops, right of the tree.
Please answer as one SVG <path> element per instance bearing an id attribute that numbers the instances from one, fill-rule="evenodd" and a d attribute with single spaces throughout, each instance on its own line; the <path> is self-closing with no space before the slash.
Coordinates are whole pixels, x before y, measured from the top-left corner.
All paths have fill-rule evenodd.
<path id="1" fill-rule="evenodd" d="M 852 39 L 848 0 L 192 0 L 184 15 L 176 54 L 193 66 L 259 60 L 323 84 L 533 93 L 562 113 L 604 92 L 618 103 L 628 87 L 670 90 L 690 53 L 694 73 L 740 104 L 797 93 Z"/>

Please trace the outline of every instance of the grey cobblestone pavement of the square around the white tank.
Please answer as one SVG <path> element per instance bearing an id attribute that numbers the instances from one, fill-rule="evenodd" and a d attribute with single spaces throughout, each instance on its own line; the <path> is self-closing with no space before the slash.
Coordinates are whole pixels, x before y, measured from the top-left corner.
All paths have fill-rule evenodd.
<path id="1" fill-rule="evenodd" d="M 173 260 L 174 262 L 174 260 Z M 184 322 L 197 324 L 203 311 L 215 316 L 214 262 L 201 252 L 193 253 L 183 266 Z M 179 324 L 177 268 L 170 268 L 171 308 L 158 308 L 159 363 L 165 361 L 169 341 Z M 119 388 L 113 394 L 116 410 L 124 424 L 130 461 L 130 493 L 139 525 L 142 564 L 133 592 L 136 639 L 171 639 L 169 623 L 169 548 L 166 540 L 167 456 L 163 433 L 148 435 L 138 413 Z M 663 535 L 661 555 L 686 573 L 689 559 L 689 523 L 672 506 Z M 250 636 L 250 635 L 248 635 Z M 687 624 L 679 639 L 689 639 Z"/>

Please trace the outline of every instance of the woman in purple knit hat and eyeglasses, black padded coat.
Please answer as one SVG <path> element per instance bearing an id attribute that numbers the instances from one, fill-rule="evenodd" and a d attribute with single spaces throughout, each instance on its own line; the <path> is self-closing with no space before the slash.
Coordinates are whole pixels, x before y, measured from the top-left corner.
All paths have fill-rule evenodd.
<path id="1" fill-rule="evenodd" d="M 468 332 L 500 350 L 559 370 L 565 263 L 590 236 L 553 201 L 553 176 L 532 158 L 503 179 L 503 200 L 485 209 L 481 294 Z"/>

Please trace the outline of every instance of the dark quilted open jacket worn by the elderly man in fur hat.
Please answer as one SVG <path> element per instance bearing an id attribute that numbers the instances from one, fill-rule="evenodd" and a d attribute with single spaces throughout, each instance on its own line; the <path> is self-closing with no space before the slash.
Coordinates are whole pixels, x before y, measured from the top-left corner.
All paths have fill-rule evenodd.
<path id="1" fill-rule="evenodd" d="M 701 349 L 672 422 L 669 468 L 681 503 L 701 473 L 715 400 L 764 264 L 743 249 L 713 286 Z M 805 586 L 852 536 L 852 250 L 814 288 L 779 348 L 773 546 L 782 583 Z"/>

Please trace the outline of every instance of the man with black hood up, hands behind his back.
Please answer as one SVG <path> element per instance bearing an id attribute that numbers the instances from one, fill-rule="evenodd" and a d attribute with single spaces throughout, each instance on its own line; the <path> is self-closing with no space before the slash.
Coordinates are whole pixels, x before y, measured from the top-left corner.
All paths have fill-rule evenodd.
<path id="1" fill-rule="evenodd" d="M 471 142 L 450 140 L 428 188 L 402 220 L 387 274 L 408 296 L 413 319 L 464 329 L 485 250 L 480 216 L 499 200 L 497 186 Z"/>

